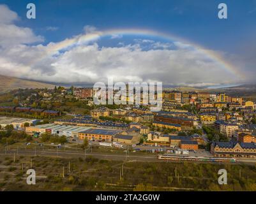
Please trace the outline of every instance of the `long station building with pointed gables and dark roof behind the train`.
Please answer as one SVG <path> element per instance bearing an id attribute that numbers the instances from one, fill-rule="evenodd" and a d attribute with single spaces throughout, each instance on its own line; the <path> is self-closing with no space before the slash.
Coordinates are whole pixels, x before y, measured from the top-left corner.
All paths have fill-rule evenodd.
<path id="1" fill-rule="evenodd" d="M 256 158 L 256 143 L 213 142 L 211 154 L 215 157 Z"/>

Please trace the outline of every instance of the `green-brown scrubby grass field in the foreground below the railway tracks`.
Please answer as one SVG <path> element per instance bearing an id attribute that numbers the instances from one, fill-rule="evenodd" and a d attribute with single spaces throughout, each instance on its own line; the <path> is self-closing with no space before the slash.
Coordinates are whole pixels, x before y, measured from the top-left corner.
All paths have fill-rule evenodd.
<path id="1" fill-rule="evenodd" d="M 26 184 L 31 166 L 36 171 L 32 186 Z M 228 184 L 220 186 L 222 168 L 228 172 Z M 17 156 L 15 162 L 12 156 L 0 158 L 4 191 L 256 191 L 255 182 L 255 166 L 244 164 L 125 163 L 91 156 Z"/>

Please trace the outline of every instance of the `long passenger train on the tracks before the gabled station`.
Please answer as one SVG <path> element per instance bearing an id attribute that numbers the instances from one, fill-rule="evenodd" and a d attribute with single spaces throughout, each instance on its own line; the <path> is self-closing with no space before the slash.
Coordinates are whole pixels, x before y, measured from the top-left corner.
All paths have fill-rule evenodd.
<path id="1" fill-rule="evenodd" d="M 158 154 L 158 159 L 172 160 L 172 161 L 210 161 L 210 162 L 232 162 L 232 163 L 236 162 L 235 158 L 173 156 L 170 154 Z"/>

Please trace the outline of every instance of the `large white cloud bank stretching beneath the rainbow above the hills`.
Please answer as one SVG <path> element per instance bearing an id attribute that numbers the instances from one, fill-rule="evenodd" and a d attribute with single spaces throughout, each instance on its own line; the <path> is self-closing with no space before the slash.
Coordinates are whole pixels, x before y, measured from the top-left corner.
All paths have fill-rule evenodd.
<path id="1" fill-rule="evenodd" d="M 13 24 L 17 15 L 6 7 L 0 7 L 12 17 L 0 24 L 0 70 L 2 75 L 61 83 L 107 82 L 107 77 L 116 81 L 162 81 L 164 84 L 214 85 L 232 83 L 234 75 L 222 68 L 222 64 L 192 49 L 190 45 L 172 44 L 153 40 L 139 40 L 133 45 L 99 47 L 80 43 L 82 34 L 48 45 L 29 45 L 42 40 L 29 28 Z M 0 12 L 1 13 L 1 12 Z M 14 31 L 14 32 L 13 32 Z M 97 33 L 96 27 L 86 25 L 86 34 Z M 68 47 L 62 52 L 58 48 Z M 140 42 L 140 43 L 139 43 Z M 143 50 L 143 43 L 157 45 Z M 11 46 L 10 46 L 11 45 Z M 158 47 L 164 47 L 159 49 Z"/>

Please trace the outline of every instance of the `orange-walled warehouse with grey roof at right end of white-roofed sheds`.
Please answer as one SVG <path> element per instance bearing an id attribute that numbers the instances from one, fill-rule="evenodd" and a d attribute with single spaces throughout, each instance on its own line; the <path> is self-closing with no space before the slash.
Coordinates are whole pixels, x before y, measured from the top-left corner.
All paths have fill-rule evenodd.
<path id="1" fill-rule="evenodd" d="M 87 129 L 86 131 L 82 131 L 79 133 L 79 139 L 84 140 L 87 138 L 88 140 L 93 141 L 106 141 L 112 142 L 115 135 L 122 133 L 123 131 L 114 130 L 114 129 Z"/>

